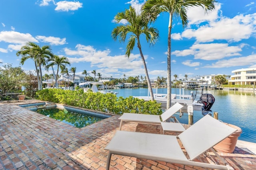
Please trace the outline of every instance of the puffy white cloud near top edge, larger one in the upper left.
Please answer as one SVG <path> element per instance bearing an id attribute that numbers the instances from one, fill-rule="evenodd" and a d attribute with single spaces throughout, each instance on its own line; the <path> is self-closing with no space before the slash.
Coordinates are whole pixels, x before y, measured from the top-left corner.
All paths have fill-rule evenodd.
<path id="1" fill-rule="evenodd" d="M 70 1 L 59 1 L 56 3 L 56 11 L 74 11 L 82 8 L 82 3 L 80 2 L 70 2 Z"/>

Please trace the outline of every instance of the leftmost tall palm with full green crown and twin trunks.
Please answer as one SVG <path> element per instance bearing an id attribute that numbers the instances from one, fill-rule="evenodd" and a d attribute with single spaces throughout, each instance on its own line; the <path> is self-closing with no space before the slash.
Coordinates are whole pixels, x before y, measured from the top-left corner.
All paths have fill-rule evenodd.
<path id="1" fill-rule="evenodd" d="M 51 47 L 44 45 L 42 48 L 33 42 L 27 42 L 26 45 L 22 46 L 20 51 L 17 51 L 17 56 L 22 56 L 20 64 L 24 64 L 27 59 L 34 60 L 36 67 L 36 75 L 38 81 L 38 90 L 42 90 L 42 66 L 46 66 L 46 61 L 52 54 Z"/>

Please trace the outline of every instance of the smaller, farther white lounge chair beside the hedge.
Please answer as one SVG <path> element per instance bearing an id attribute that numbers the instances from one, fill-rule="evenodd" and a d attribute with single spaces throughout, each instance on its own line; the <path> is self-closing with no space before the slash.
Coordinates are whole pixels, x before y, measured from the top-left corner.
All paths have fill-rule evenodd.
<path id="1" fill-rule="evenodd" d="M 122 129 L 123 122 L 138 122 L 138 123 L 148 123 L 148 124 L 161 124 L 161 122 L 167 121 L 170 117 L 174 115 L 174 113 L 180 111 L 183 106 L 179 103 L 174 104 L 168 110 L 166 110 L 162 115 L 146 115 L 146 114 L 137 114 L 137 113 L 124 113 L 119 119 L 120 127 L 119 130 Z M 173 117 L 175 121 L 179 123 L 179 121 Z M 162 119 L 162 120 L 161 120 Z"/>

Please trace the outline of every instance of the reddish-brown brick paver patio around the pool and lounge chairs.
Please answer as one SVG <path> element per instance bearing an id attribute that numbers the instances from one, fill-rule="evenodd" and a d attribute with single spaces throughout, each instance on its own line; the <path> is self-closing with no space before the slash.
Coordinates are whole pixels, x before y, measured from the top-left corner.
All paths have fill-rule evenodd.
<path id="1" fill-rule="evenodd" d="M 16 104 L 21 102 L 0 104 L 0 169 L 105 169 L 108 151 L 104 148 L 119 128 L 119 115 L 79 129 Z M 126 123 L 122 129 L 160 133 L 158 125 Z M 237 170 L 256 169 L 256 155 L 240 148 L 236 147 L 232 154 L 220 154 Z M 199 161 L 207 162 L 203 157 Z M 112 156 L 110 167 L 112 170 L 203 169 L 119 155 Z"/>

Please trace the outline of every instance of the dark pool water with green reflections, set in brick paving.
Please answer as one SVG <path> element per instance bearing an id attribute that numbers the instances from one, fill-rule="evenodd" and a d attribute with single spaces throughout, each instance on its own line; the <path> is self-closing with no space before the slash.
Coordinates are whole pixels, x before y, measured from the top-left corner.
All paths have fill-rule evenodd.
<path id="1" fill-rule="evenodd" d="M 87 125 L 104 119 L 101 117 L 58 108 L 38 109 L 36 112 L 78 128 L 85 127 Z"/>

